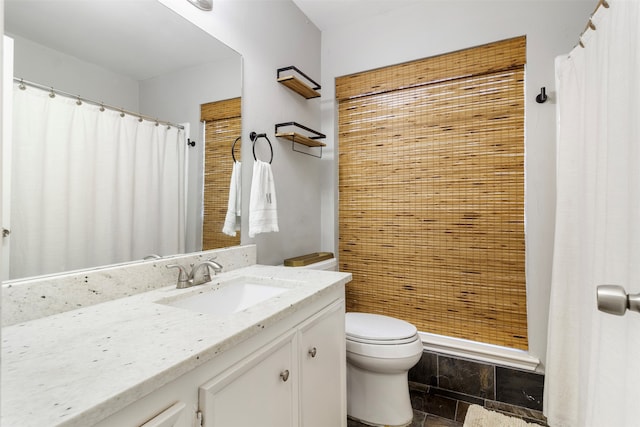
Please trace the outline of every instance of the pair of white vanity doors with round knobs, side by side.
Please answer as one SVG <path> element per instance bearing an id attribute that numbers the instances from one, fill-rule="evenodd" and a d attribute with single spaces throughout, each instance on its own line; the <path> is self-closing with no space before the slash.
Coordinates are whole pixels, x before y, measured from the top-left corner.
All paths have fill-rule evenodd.
<path id="1" fill-rule="evenodd" d="M 344 300 L 200 387 L 204 427 L 346 423 Z"/>

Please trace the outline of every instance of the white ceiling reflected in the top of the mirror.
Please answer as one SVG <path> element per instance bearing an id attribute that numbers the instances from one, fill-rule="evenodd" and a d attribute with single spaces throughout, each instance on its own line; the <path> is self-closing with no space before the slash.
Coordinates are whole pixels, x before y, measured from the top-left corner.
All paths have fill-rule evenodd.
<path id="1" fill-rule="evenodd" d="M 5 32 L 135 80 L 236 56 L 156 0 L 5 0 Z"/>

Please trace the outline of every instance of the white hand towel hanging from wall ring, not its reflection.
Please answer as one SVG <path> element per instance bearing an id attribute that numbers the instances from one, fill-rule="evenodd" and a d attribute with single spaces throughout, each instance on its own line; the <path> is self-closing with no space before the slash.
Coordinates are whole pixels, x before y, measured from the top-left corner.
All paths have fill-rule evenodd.
<path id="1" fill-rule="evenodd" d="M 280 231 L 273 173 L 269 163 L 256 160 L 249 199 L 249 237 L 272 231 Z"/>

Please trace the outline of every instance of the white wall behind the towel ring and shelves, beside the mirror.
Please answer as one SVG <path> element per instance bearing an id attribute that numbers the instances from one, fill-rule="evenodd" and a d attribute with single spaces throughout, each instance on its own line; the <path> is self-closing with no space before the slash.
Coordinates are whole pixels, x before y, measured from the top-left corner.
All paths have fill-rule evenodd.
<path id="1" fill-rule="evenodd" d="M 250 239 L 248 218 L 243 215 L 242 243 L 257 244 L 257 258 L 262 264 L 279 264 L 284 258 L 320 250 L 320 180 L 326 160 L 294 153 L 289 142 L 273 136 L 274 125 L 281 122 L 320 127 L 320 101 L 305 100 L 276 82 L 276 70 L 288 65 L 320 81 L 320 31 L 290 0 L 220 0 L 213 2 L 210 12 L 200 11 L 185 0 L 160 1 L 243 57 L 244 212 L 252 175 L 249 133 L 266 133 L 273 144 L 280 232 Z M 258 144 L 258 156 L 266 160 L 265 141 L 261 139 Z"/>

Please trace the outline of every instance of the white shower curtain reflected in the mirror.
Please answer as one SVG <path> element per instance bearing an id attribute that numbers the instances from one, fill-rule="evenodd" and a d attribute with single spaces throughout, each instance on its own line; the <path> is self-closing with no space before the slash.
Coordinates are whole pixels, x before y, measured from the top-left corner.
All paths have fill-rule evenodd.
<path id="1" fill-rule="evenodd" d="M 184 251 L 184 131 L 14 87 L 11 277 Z"/>

